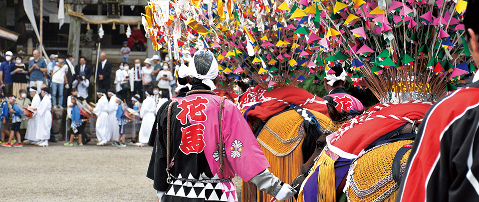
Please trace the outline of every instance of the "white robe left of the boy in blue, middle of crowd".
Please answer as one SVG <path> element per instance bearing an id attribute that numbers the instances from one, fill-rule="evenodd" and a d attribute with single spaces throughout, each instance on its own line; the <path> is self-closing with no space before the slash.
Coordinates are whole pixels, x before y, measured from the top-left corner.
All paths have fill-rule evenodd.
<path id="1" fill-rule="evenodd" d="M 105 95 L 98 100 L 93 113 L 98 117 L 95 126 L 98 142 L 108 142 L 110 122 L 108 121 L 108 99 Z"/>

